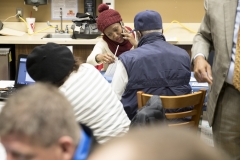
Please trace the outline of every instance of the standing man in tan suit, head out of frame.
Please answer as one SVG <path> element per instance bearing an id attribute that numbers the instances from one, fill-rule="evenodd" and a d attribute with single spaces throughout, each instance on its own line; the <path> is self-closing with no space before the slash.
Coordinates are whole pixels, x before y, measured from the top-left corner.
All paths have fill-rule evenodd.
<path id="1" fill-rule="evenodd" d="M 198 82 L 210 84 L 207 117 L 214 144 L 231 159 L 240 159 L 240 74 L 235 68 L 240 64 L 240 1 L 205 0 L 204 7 L 206 13 L 192 47 L 194 75 Z M 212 68 L 206 61 L 211 49 L 215 52 Z"/>

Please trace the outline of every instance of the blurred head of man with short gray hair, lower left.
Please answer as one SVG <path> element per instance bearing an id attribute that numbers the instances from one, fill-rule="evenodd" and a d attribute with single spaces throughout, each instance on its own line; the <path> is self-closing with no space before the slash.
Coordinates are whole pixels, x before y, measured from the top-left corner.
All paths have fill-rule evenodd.
<path id="1" fill-rule="evenodd" d="M 86 140 L 66 98 L 57 88 L 38 83 L 7 100 L 0 136 L 8 160 L 71 160 L 84 145 L 79 141 Z"/>

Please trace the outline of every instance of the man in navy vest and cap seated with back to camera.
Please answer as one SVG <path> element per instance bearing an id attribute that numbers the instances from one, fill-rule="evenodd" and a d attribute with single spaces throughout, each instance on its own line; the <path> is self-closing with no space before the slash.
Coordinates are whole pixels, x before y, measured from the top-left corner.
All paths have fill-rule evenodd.
<path id="1" fill-rule="evenodd" d="M 167 96 L 191 92 L 190 57 L 166 42 L 160 14 L 140 12 L 134 18 L 134 27 L 138 47 L 119 56 L 112 80 L 112 88 L 130 119 L 137 111 L 137 91 Z"/>

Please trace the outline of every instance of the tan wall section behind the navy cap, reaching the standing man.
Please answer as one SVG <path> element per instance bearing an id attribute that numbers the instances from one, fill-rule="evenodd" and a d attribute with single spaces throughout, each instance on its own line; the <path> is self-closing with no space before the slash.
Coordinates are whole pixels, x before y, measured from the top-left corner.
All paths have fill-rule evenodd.
<path id="1" fill-rule="evenodd" d="M 163 23 L 177 20 L 182 23 L 200 23 L 203 15 L 204 0 L 115 0 L 124 22 L 133 22 L 134 16 L 143 10 L 158 11 Z"/>

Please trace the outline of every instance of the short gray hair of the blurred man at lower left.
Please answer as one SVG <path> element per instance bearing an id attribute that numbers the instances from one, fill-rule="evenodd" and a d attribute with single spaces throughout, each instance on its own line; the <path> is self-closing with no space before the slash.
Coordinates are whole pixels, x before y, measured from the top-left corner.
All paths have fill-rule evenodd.
<path id="1" fill-rule="evenodd" d="M 80 127 L 73 109 L 59 90 L 36 83 L 18 90 L 0 113 L 0 136 L 26 137 L 33 145 L 49 147 L 62 136 L 69 136 L 77 146 Z"/>

